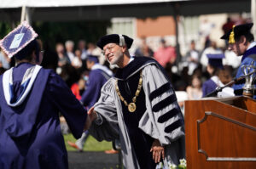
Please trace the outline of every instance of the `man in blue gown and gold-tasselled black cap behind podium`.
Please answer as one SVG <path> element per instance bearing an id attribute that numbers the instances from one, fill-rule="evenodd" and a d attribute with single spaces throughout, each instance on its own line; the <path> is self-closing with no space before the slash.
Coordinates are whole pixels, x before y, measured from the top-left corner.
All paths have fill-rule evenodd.
<path id="1" fill-rule="evenodd" d="M 254 61 L 253 66 L 256 67 L 256 42 L 254 42 L 253 34 L 250 32 L 252 27 L 253 23 L 234 25 L 228 33 L 220 37 L 221 39 L 229 40 L 229 50 L 233 51 L 237 56 L 242 55 L 236 78 L 244 75 L 241 69 L 243 65 L 251 65 L 252 61 Z M 244 84 L 245 81 L 240 81 L 233 86 L 236 95 L 242 95 Z M 253 99 L 256 99 L 255 91 Z"/>

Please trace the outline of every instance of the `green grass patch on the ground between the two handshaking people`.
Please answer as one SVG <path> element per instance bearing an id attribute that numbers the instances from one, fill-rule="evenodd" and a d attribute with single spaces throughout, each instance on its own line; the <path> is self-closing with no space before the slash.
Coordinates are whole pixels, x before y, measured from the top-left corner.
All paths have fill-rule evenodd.
<path id="1" fill-rule="evenodd" d="M 64 134 L 64 140 L 67 147 L 67 151 L 76 151 L 73 147 L 67 144 L 67 141 L 75 143 L 76 139 L 73 138 L 72 134 Z M 89 136 L 84 144 L 84 151 L 104 151 L 112 149 L 112 143 L 107 141 L 98 142 L 92 136 Z"/>

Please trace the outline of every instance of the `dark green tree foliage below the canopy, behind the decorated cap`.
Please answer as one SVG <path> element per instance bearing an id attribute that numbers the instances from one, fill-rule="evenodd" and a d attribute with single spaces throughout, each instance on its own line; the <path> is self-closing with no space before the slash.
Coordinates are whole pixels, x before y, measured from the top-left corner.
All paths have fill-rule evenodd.
<path id="1" fill-rule="evenodd" d="M 73 21 L 73 22 L 41 22 L 32 23 L 33 29 L 38 33 L 39 38 L 44 43 L 44 48 L 55 49 L 56 42 L 66 42 L 72 40 L 78 42 L 80 39 L 86 42 L 96 42 L 107 32 L 110 25 L 109 20 L 105 21 Z M 12 30 L 12 26 L 7 22 L 0 22 L 0 38 Z"/>

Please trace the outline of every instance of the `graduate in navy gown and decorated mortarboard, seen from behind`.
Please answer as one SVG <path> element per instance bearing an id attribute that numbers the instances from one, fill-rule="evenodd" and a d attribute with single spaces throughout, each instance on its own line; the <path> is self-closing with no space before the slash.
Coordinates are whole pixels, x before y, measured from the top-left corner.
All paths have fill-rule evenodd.
<path id="1" fill-rule="evenodd" d="M 86 110 L 60 76 L 39 65 L 36 37 L 25 21 L 0 42 L 16 62 L 0 76 L 1 169 L 68 168 L 59 112 L 75 138 L 83 133 Z"/>

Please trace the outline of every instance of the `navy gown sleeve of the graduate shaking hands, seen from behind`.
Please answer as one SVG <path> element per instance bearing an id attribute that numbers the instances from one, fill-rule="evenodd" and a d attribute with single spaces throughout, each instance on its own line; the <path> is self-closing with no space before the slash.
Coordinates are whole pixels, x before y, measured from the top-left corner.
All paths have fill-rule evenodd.
<path id="1" fill-rule="evenodd" d="M 74 138 L 80 138 L 84 132 L 84 123 L 87 117 L 83 105 L 75 98 L 61 77 L 55 73 L 49 75 L 47 89 L 56 109 L 65 117 Z"/>

